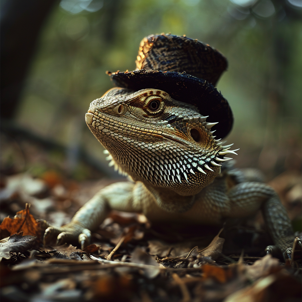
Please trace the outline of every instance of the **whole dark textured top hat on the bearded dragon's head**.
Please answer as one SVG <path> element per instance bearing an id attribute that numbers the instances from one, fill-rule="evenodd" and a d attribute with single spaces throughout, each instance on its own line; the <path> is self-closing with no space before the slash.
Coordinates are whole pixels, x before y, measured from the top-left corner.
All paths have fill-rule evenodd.
<path id="1" fill-rule="evenodd" d="M 227 67 L 220 52 L 185 36 L 151 35 L 141 41 L 136 65 L 134 71 L 108 74 L 119 87 L 155 88 L 196 106 L 208 122 L 219 122 L 213 127 L 217 139 L 230 132 L 231 108 L 213 86 Z"/>

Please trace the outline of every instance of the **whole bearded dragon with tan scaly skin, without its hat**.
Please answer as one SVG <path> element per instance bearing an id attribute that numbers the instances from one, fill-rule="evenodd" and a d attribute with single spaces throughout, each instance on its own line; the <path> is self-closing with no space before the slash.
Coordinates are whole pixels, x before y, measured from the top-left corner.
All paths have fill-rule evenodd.
<path id="1" fill-rule="evenodd" d="M 156 89 L 112 88 L 93 101 L 86 123 L 111 165 L 132 181 L 99 191 L 69 224 L 48 227 L 45 242 L 78 239 L 83 248 L 113 209 L 141 212 L 153 222 L 194 224 L 219 224 L 261 209 L 275 245 L 289 255 L 294 233 L 278 195 L 239 170 L 221 171 L 230 159 L 224 156 L 236 150 L 220 146 L 211 132 L 215 123 L 206 118 Z"/>

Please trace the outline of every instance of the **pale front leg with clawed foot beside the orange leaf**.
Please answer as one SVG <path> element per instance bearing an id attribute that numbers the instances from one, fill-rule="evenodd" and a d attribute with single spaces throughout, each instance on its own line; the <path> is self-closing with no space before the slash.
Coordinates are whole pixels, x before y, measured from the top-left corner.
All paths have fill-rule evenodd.
<path id="1" fill-rule="evenodd" d="M 90 242 L 91 231 L 107 217 L 110 210 L 140 211 L 140 204 L 133 202 L 132 182 L 117 182 L 101 189 L 74 215 L 71 222 L 59 228 L 49 226 L 45 230 L 44 244 L 56 238 L 58 245 L 79 241 L 83 249 Z"/>

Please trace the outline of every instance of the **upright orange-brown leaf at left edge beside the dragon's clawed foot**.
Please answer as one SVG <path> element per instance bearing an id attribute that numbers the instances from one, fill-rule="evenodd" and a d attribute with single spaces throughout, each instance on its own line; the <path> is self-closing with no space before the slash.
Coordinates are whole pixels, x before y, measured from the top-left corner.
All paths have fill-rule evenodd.
<path id="1" fill-rule="evenodd" d="M 4 238 L 5 233 L 12 235 L 19 232 L 40 238 L 40 223 L 29 213 L 29 207 L 30 204 L 26 204 L 25 209 L 17 212 L 14 218 L 4 218 L 0 225 L 0 239 Z"/>

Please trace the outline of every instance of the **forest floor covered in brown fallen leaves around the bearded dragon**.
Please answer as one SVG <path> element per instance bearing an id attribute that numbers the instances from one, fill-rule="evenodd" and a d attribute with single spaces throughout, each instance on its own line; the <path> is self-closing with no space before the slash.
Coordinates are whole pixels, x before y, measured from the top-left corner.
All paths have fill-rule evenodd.
<path id="1" fill-rule="evenodd" d="M 43 246 L 43 220 L 68 223 L 117 181 L 86 162 L 76 171 L 61 151 L 2 133 L 2 301 L 301 300 L 301 251 L 294 246 L 297 260 L 286 262 L 265 255 L 272 242 L 260 213 L 221 229 L 152 225 L 143 214 L 113 211 L 84 250 L 76 243 Z M 301 237 L 300 173 L 284 171 L 269 184 Z"/>

